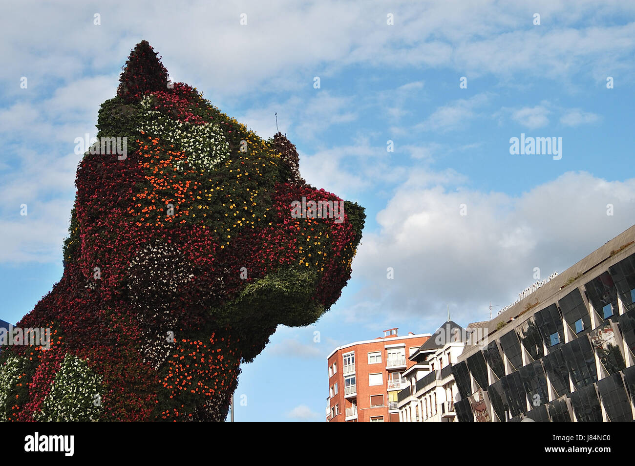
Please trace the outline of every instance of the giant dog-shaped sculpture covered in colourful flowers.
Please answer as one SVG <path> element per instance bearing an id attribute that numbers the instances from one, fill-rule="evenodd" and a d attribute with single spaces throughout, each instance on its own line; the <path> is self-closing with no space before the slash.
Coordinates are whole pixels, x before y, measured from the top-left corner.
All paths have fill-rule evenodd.
<path id="1" fill-rule="evenodd" d="M 281 133 L 171 83 L 146 41 L 97 127 L 126 153 L 79 163 L 64 275 L 18 323 L 50 328 L 50 347 L 0 352 L 0 418 L 224 420 L 240 364 L 338 299 L 364 210 L 308 185 Z"/>

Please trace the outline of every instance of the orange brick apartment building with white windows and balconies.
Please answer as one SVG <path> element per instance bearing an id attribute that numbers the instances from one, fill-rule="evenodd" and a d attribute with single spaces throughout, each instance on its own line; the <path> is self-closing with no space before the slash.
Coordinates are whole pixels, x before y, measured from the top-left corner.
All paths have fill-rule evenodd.
<path id="1" fill-rule="evenodd" d="M 337 347 L 327 357 L 328 422 L 399 422 L 398 392 L 406 387 L 404 373 L 416 364 L 410 356 L 431 334 L 398 335 L 384 330 L 373 340 Z"/>

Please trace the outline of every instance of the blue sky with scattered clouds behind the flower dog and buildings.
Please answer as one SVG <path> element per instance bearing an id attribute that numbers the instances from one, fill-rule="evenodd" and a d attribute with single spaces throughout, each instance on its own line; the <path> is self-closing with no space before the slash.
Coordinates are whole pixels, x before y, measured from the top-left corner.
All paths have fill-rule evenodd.
<path id="1" fill-rule="evenodd" d="M 18 321 L 61 277 L 74 139 L 95 135 L 99 105 L 142 39 L 175 81 L 262 137 L 276 132 L 277 112 L 304 178 L 366 207 L 342 298 L 312 326 L 280 327 L 243 366 L 237 421 L 323 421 L 326 355 L 337 345 L 392 327 L 431 333 L 447 305 L 464 326 L 485 320 L 490 301 L 507 305 L 535 281 L 535 267 L 542 278 L 563 272 L 635 219 L 635 4 L 60 1 L 5 10 L 1 319 Z M 562 138 L 562 158 L 511 155 L 521 133 Z"/>

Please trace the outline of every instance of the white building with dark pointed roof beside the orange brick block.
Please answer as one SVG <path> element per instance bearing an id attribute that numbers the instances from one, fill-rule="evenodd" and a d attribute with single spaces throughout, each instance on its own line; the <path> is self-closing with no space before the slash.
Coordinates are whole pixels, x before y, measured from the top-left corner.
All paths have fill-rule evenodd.
<path id="1" fill-rule="evenodd" d="M 397 396 L 399 422 L 455 422 L 454 401 L 458 390 L 453 364 L 471 333 L 448 320 L 411 356 L 404 371 L 407 386 Z"/>

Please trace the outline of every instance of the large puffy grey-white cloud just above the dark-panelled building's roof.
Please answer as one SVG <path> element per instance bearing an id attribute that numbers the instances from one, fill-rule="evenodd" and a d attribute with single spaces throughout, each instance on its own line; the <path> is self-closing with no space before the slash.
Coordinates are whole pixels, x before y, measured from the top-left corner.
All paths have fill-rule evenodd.
<path id="1" fill-rule="evenodd" d="M 464 189 L 449 173 L 413 173 L 377 214 L 380 230 L 364 233 L 353 262 L 364 287 L 346 313 L 360 321 L 431 316 L 449 302 L 457 321 L 483 320 L 490 300 L 506 305 L 535 281 L 534 267 L 542 276 L 563 272 L 633 218 L 635 178 L 570 172 L 512 197 Z"/>

